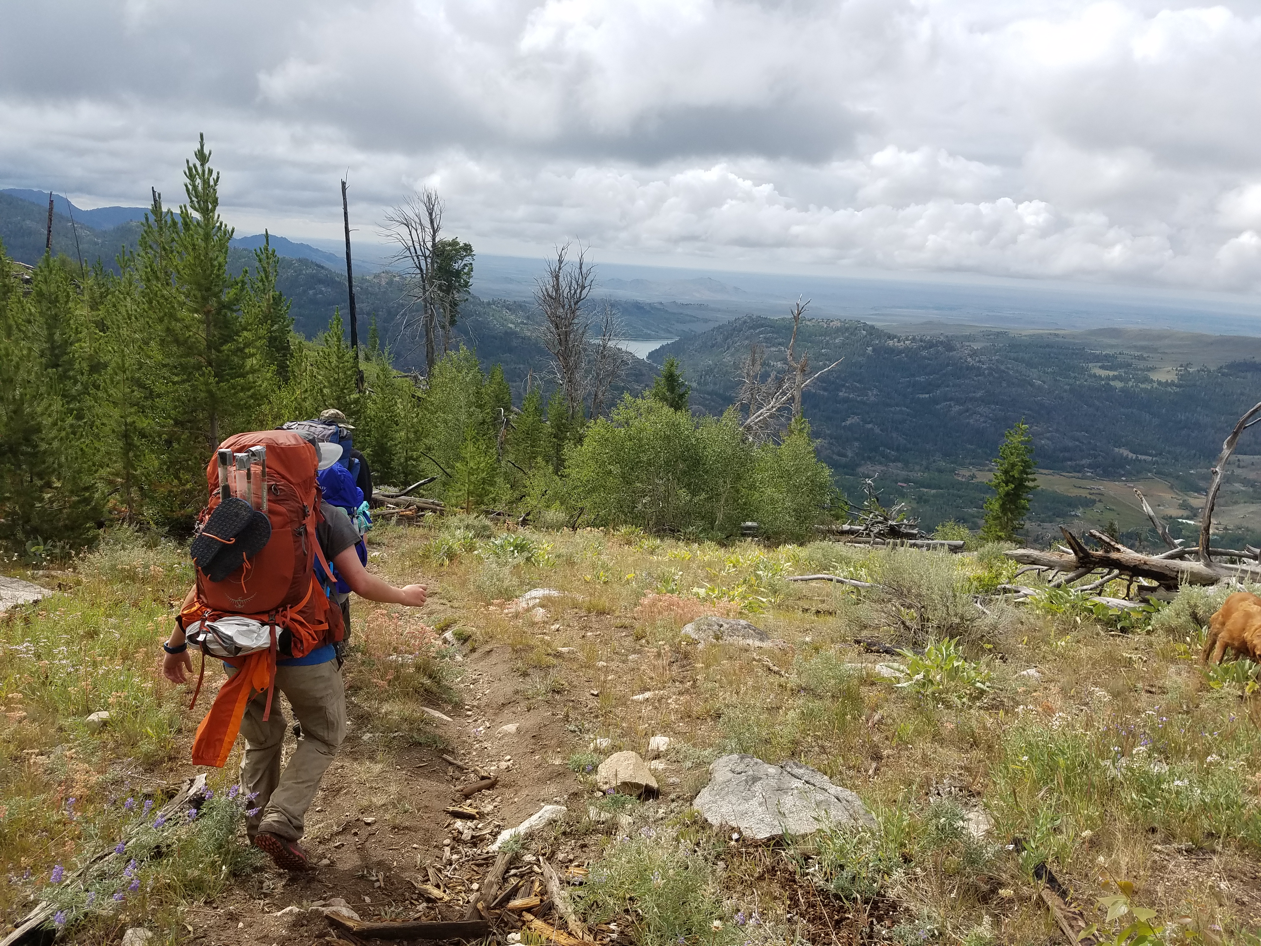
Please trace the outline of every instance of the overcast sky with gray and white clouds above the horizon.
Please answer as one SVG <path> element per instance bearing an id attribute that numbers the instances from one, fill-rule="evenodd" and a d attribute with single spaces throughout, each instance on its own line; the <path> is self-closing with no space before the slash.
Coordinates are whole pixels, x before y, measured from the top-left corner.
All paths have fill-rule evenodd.
<path id="1" fill-rule="evenodd" d="M 1261 0 L 40 0 L 0 185 L 483 252 L 1261 290 Z"/>

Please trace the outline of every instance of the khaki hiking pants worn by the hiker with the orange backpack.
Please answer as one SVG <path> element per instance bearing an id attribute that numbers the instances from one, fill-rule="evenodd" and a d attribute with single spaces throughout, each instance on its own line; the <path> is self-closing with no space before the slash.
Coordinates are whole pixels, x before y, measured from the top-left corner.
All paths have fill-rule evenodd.
<path id="1" fill-rule="evenodd" d="M 241 788 L 259 792 L 255 815 L 246 820 L 253 838 L 269 831 L 286 840 L 303 836 L 306 810 L 315 801 L 319 780 L 346 739 L 346 689 L 337 661 L 306 667 L 276 667 L 276 690 L 289 698 L 303 737 L 284 771 L 280 752 L 286 721 L 279 696 L 272 698 L 271 718 L 264 723 L 267 694 L 257 694 L 245 708 L 241 734 L 246 739 L 241 759 Z"/>

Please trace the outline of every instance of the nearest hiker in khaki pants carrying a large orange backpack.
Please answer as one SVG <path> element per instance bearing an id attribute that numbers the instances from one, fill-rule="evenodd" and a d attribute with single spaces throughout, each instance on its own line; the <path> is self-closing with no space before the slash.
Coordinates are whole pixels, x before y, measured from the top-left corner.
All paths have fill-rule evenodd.
<path id="1" fill-rule="evenodd" d="M 228 680 L 197 729 L 193 762 L 222 767 L 237 733 L 245 734 L 241 787 L 255 797 L 246 832 L 289 870 L 310 868 L 298 841 L 346 738 L 334 648 L 344 631 L 340 608 L 329 600 L 330 563 L 363 598 L 425 603 L 424 585 L 395 588 L 369 575 L 354 550 L 358 530 L 343 510 L 320 501 L 318 470 L 340 453 L 337 444 L 290 430 L 237 434 L 221 444 L 207 467 L 211 499 L 192 546 L 197 584 L 163 645 L 163 674 L 177 684 L 193 670 L 189 646 L 202 651 L 202 674 L 207 656 L 223 661 Z M 284 771 L 286 723 L 272 703 L 276 689 L 301 724 Z"/>

